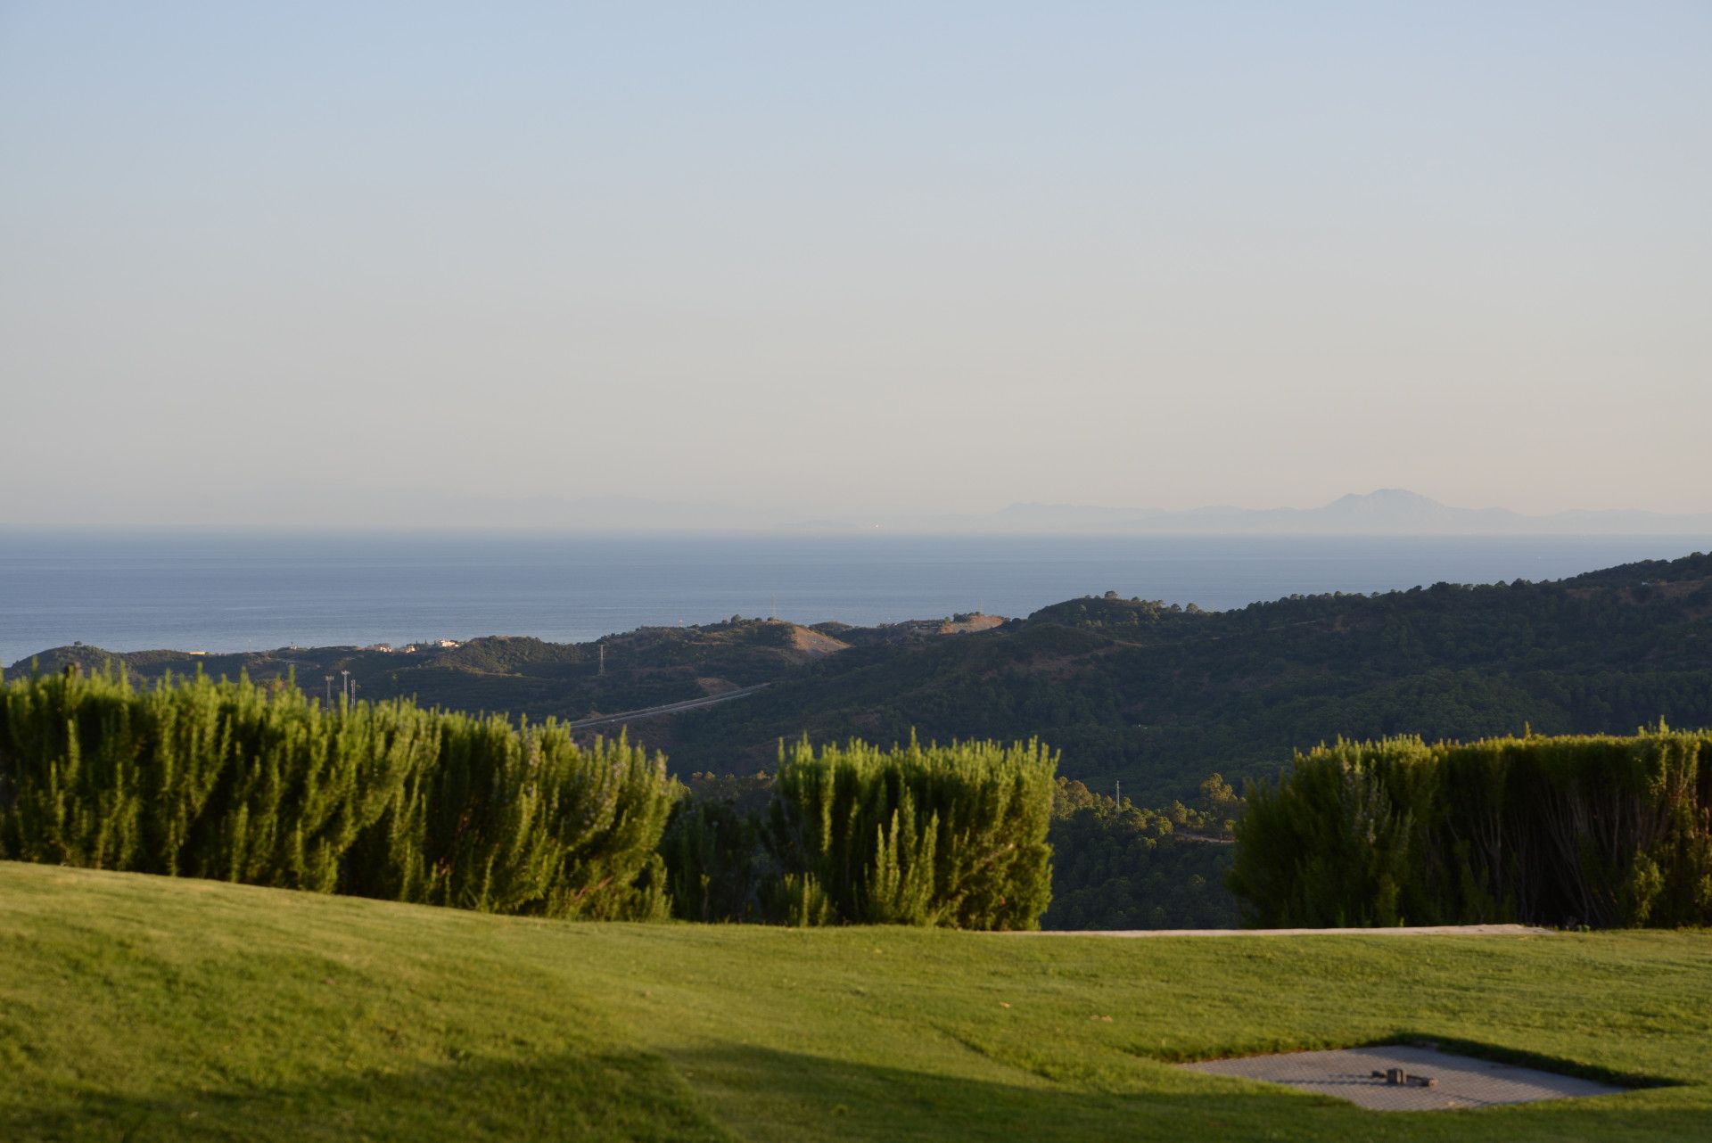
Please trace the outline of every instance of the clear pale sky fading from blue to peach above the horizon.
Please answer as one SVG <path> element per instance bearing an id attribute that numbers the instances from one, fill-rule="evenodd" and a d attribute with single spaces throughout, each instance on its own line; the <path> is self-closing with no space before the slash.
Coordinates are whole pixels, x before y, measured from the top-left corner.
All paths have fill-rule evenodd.
<path id="1" fill-rule="evenodd" d="M 1703 0 L 0 0 L 0 525 L 1707 512 L 1709 56 Z"/>

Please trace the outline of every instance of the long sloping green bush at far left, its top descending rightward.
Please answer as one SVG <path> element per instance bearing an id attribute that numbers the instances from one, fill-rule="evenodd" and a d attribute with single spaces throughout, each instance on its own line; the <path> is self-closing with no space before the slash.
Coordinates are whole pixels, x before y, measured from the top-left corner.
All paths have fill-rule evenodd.
<path id="1" fill-rule="evenodd" d="M 0 684 L 0 857 L 551 917 L 664 912 L 664 758 L 204 676 Z"/>

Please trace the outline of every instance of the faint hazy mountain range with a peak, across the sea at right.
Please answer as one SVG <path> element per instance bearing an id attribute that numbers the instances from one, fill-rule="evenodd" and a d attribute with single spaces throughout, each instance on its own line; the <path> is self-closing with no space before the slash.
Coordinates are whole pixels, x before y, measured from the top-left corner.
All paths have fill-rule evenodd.
<path id="1" fill-rule="evenodd" d="M 914 517 L 883 524 L 907 532 L 1015 534 L 1299 534 L 1299 536 L 1709 536 L 1712 512 L 1638 510 L 1524 515 L 1508 508 L 1453 508 L 1402 488 L 1339 496 L 1320 508 L 1234 508 L 1169 512 L 1087 505 L 1010 505 L 1000 512 Z"/>

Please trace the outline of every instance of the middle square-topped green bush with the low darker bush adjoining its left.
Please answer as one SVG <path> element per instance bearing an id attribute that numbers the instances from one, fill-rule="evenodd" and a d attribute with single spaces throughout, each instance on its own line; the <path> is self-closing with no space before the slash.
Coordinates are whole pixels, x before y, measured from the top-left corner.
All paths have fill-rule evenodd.
<path id="1" fill-rule="evenodd" d="M 762 813 L 721 801 L 680 813 L 664 842 L 675 907 L 776 924 L 1039 927 L 1056 765 L 1037 743 L 781 748 Z"/>

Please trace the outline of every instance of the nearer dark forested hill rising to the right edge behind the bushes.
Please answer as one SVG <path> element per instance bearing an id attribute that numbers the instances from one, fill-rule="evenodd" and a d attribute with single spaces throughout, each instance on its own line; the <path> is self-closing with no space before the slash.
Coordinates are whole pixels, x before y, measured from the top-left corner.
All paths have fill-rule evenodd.
<path id="1" fill-rule="evenodd" d="M 680 765 L 772 741 L 1041 736 L 1142 804 L 1342 736 L 1712 724 L 1712 556 L 1551 583 L 1311 595 L 1205 613 L 1072 599 L 986 635 L 854 647 L 673 727 Z"/>

